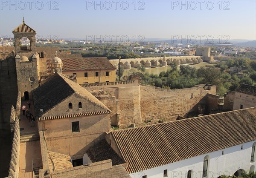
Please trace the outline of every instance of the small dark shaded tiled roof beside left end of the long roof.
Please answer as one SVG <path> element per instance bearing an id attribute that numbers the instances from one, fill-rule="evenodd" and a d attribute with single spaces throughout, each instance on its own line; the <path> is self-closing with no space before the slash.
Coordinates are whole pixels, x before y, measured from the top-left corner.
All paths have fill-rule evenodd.
<path id="1" fill-rule="evenodd" d="M 99 141 L 87 151 L 90 160 L 94 162 L 111 159 L 112 165 L 125 164 L 125 161 L 116 154 L 107 141 Z"/>

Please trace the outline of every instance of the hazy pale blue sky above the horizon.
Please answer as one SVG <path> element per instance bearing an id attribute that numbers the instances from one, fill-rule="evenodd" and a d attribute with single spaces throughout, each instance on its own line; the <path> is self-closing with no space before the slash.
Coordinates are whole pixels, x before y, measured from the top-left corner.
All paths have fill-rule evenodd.
<path id="1" fill-rule="evenodd" d="M 24 13 L 25 23 L 44 38 L 256 39 L 255 0 L 0 1 L 2 36 L 13 36 Z"/>

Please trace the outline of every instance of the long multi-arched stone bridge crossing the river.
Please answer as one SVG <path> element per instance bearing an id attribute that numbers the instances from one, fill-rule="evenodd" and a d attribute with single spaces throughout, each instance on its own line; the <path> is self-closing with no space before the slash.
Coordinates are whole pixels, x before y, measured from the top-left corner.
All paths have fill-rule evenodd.
<path id="1" fill-rule="evenodd" d="M 113 66 L 118 68 L 118 59 L 109 60 Z M 171 62 L 176 62 L 178 65 L 187 63 L 201 63 L 202 56 L 170 56 L 170 57 L 142 57 L 134 59 L 120 59 L 120 65 L 124 69 L 139 68 L 141 65 L 145 67 L 152 66 L 167 66 Z"/>

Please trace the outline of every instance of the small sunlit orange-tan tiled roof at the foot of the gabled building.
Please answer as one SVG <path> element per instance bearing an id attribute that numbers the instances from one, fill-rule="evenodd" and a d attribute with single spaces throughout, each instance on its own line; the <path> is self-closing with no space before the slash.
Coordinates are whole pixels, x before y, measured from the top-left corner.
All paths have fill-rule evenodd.
<path id="1" fill-rule="evenodd" d="M 50 159 L 49 155 L 51 156 L 52 160 Z M 49 151 L 48 159 L 49 159 L 49 166 L 50 166 L 50 171 L 52 172 L 53 170 L 53 164 L 54 164 L 54 170 L 63 170 L 63 169 L 68 169 L 73 167 L 71 161 L 70 161 L 70 156 L 69 155 L 64 155 L 58 152 L 51 152 Z M 53 162 L 53 164 L 52 164 Z"/>

